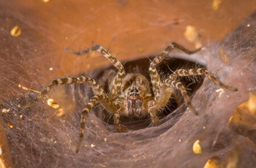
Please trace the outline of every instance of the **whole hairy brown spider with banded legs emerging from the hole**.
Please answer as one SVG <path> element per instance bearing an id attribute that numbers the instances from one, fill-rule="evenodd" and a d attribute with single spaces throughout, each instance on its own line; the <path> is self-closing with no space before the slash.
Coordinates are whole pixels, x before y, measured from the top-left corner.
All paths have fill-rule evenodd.
<path id="1" fill-rule="evenodd" d="M 183 96 L 185 103 L 191 109 L 193 113 L 196 115 L 198 114 L 195 108 L 191 105 L 191 101 L 185 90 L 185 87 L 177 81 L 178 77 L 184 77 L 189 75 L 205 75 L 209 79 L 212 79 L 214 83 L 217 85 L 224 87 L 229 90 L 237 91 L 236 88 L 230 87 L 225 85 L 224 83 L 220 82 L 218 78 L 209 73 L 206 69 L 179 69 L 176 70 L 174 73 L 170 74 L 168 78 L 164 80 L 160 80 L 160 76 L 157 70 L 157 65 L 163 61 L 163 59 L 168 56 L 173 49 L 180 49 L 181 51 L 192 54 L 195 52 L 200 51 L 200 49 L 196 49 L 195 51 L 189 51 L 188 49 L 184 48 L 183 46 L 177 43 L 171 43 L 168 45 L 162 53 L 152 60 L 149 73 L 152 83 L 152 89 L 150 87 L 150 81 L 142 74 L 138 73 L 130 73 L 126 74 L 125 69 L 121 62 L 119 62 L 115 57 L 112 56 L 106 49 L 101 47 L 101 45 L 95 45 L 92 48 L 86 48 L 82 51 L 73 51 L 72 49 L 66 48 L 65 50 L 71 52 L 76 55 L 82 55 L 89 52 L 99 52 L 102 56 L 106 57 L 112 64 L 117 68 L 117 73 L 115 77 L 112 79 L 112 83 L 109 85 L 109 93 L 105 93 L 102 86 L 98 85 L 98 83 L 86 76 L 80 76 L 75 78 L 60 78 L 53 80 L 49 85 L 44 89 L 37 98 L 24 105 L 20 108 L 23 110 L 31 104 L 34 104 L 38 99 L 42 98 L 46 95 L 54 86 L 58 85 L 66 85 L 71 83 L 84 83 L 87 82 L 92 87 L 93 94 L 92 98 L 82 110 L 81 114 L 81 128 L 80 128 L 80 137 L 79 141 L 77 142 L 76 152 L 79 152 L 79 148 L 81 146 L 82 138 L 84 137 L 85 131 L 85 123 L 86 123 L 86 115 L 88 112 L 96 106 L 97 103 L 101 103 L 104 108 L 113 115 L 114 125 L 117 131 L 124 132 L 126 128 L 123 127 L 119 123 L 120 116 L 151 116 L 151 122 L 153 125 L 159 124 L 158 119 L 158 112 L 161 108 L 167 106 L 168 100 L 174 93 L 174 89 L 178 89 Z"/>

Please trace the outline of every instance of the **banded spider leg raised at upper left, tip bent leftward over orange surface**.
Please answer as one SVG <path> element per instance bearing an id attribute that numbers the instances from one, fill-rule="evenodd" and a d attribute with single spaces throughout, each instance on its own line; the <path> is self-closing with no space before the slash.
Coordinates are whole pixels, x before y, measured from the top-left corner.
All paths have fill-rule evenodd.
<path id="1" fill-rule="evenodd" d="M 118 61 L 117 58 L 113 57 L 112 54 L 110 54 L 105 48 L 103 48 L 101 45 L 94 45 L 92 48 L 86 48 L 82 51 L 73 51 L 72 49 L 69 49 L 69 48 L 65 48 L 65 51 L 76 54 L 77 56 L 81 56 L 82 54 L 86 54 L 92 51 L 101 53 L 110 62 L 112 62 L 115 68 L 118 69 L 117 75 L 114 77 L 112 82 L 110 97 L 111 96 L 115 97 L 120 94 L 121 83 L 122 83 L 123 77 L 125 77 L 125 68 L 123 68 L 123 65 L 121 64 L 121 62 Z"/>

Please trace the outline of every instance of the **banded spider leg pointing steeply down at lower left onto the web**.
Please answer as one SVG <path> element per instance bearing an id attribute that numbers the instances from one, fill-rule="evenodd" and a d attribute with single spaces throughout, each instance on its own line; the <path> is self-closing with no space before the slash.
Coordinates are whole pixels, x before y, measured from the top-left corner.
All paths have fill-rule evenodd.
<path id="1" fill-rule="evenodd" d="M 81 114 L 81 121 L 80 121 L 80 136 L 79 140 L 77 141 L 76 146 L 76 153 L 79 152 L 80 146 L 82 144 L 82 138 L 84 138 L 84 131 L 85 131 L 85 124 L 86 124 L 86 116 L 88 115 L 89 111 L 98 103 L 99 96 L 94 95 L 92 99 L 86 104 L 85 108 L 82 110 Z"/>

